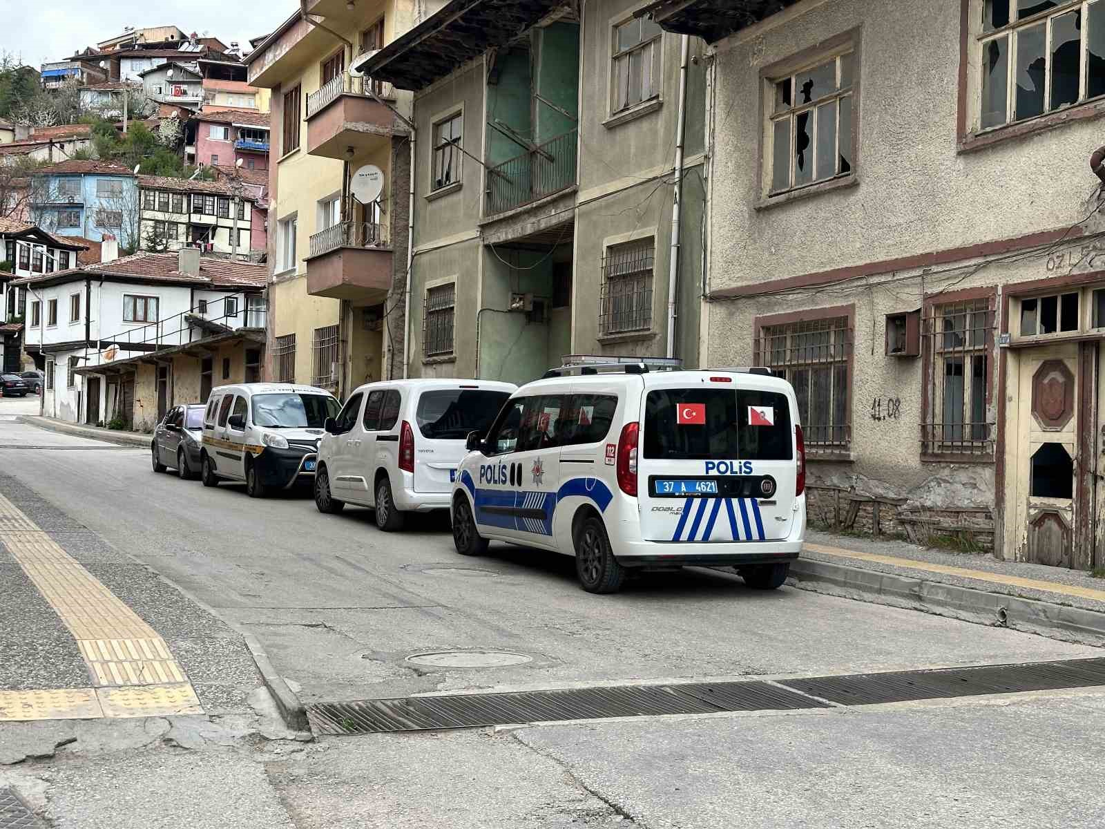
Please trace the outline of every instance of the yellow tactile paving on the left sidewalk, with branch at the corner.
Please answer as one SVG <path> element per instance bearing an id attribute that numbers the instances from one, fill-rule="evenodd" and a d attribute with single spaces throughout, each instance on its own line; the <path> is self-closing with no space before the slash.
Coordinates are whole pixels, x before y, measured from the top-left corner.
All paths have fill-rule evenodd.
<path id="1" fill-rule="evenodd" d="M 165 640 L 2 495 L 0 543 L 73 633 L 95 685 L 2 691 L 0 720 L 203 713 Z"/>

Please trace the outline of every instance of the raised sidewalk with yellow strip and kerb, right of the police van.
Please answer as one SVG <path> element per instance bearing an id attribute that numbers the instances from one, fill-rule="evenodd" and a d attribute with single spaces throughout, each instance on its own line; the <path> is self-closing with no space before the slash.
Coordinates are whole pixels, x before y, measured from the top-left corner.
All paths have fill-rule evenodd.
<path id="1" fill-rule="evenodd" d="M 790 584 L 803 590 L 1105 646 L 1105 579 L 990 555 L 811 531 Z"/>

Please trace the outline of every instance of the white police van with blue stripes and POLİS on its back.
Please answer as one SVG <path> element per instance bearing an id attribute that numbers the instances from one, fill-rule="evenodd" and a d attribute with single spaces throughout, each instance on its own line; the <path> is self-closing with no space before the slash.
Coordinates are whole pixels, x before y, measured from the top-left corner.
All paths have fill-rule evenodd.
<path id="1" fill-rule="evenodd" d="M 768 369 L 554 369 L 523 386 L 453 487 L 453 539 L 576 557 L 613 592 L 632 567 L 726 565 L 787 577 L 806 536 L 806 458 L 790 384 Z"/>

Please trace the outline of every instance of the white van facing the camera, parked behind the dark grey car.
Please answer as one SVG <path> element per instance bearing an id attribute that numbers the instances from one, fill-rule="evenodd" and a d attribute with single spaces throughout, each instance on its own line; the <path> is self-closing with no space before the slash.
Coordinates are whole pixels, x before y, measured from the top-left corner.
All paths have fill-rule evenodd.
<path id="1" fill-rule="evenodd" d="M 334 395 L 314 386 L 244 382 L 213 389 L 203 411 L 203 485 L 245 481 L 251 497 L 264 497 L 309 483 L 323 424 L 339 408 Z"/>

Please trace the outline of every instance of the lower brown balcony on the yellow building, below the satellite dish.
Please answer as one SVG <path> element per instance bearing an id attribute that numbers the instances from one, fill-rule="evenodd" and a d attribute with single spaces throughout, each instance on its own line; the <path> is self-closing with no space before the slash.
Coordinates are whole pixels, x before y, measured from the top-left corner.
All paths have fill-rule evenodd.
<path id="1" fill-rule="evenodd" d="M 307 293 L 380 303 L 391 287 L 391 248 L 382 224 L 340 222 L 311 237 Z"/>

